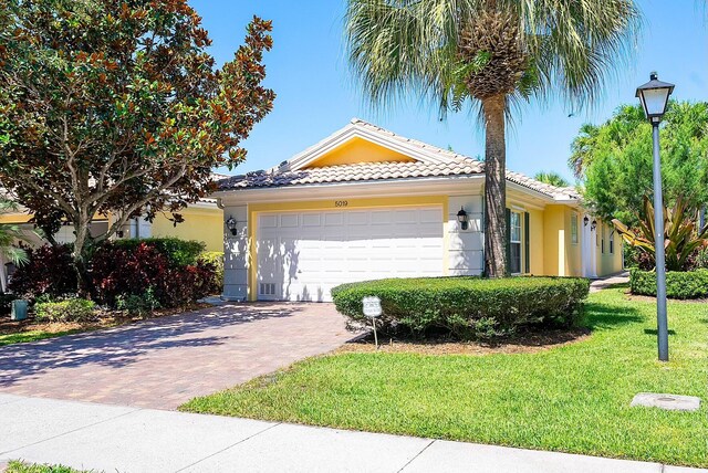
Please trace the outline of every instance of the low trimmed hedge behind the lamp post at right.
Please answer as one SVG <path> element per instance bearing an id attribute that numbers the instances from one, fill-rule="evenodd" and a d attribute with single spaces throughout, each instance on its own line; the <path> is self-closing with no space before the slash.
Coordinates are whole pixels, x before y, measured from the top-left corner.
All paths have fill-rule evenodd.
<path id="1" fill-rule="evenodd" d="M 629 272 L 632 294 L 656 296 L 656 273 L 633 269 Z M 666 296 L 669 298 L 708 297 L 708 270 L 668 271 Z"/>

